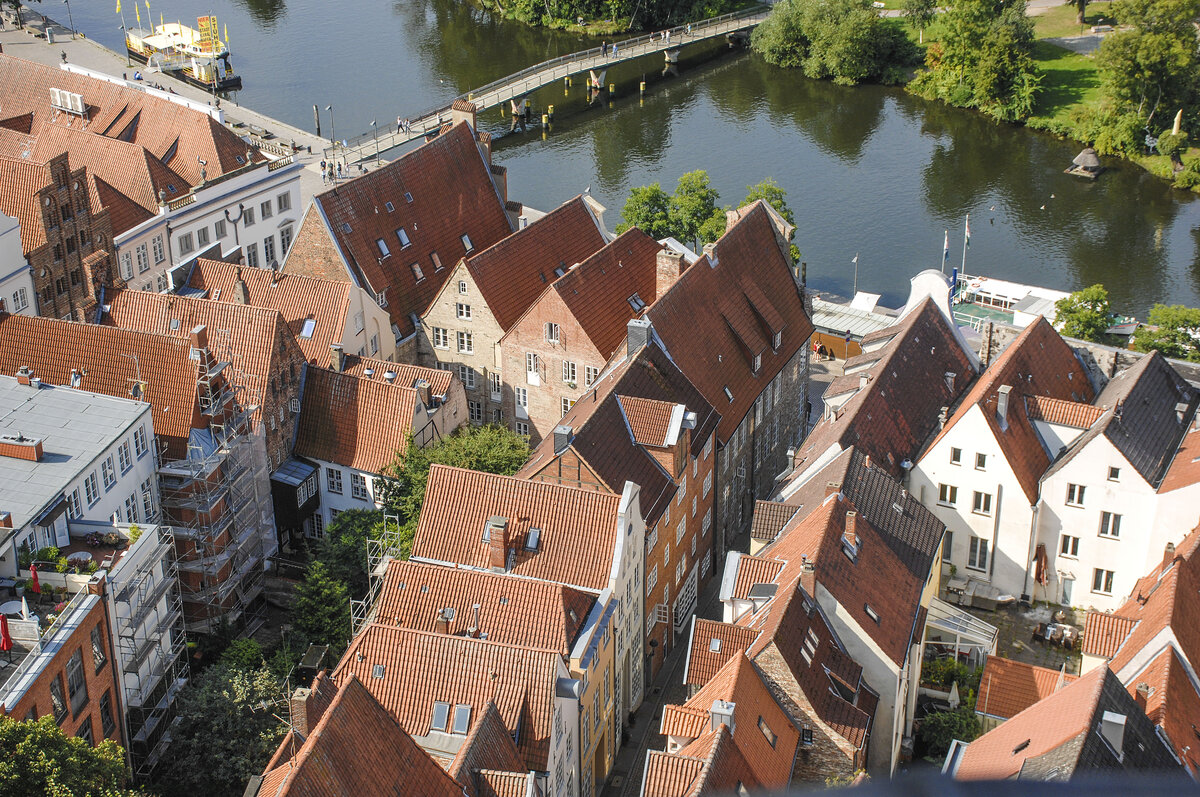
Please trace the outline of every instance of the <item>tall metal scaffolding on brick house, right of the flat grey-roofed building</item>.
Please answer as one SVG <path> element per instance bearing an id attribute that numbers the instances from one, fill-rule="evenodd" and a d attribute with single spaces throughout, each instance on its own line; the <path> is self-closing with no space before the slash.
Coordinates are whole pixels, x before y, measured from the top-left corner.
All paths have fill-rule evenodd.
<path id="1" fill-rule="evenodd" d="M 214 347 L 193 342 L 203 429 L 193 429 L 182 460 L 161 462 L 163 522 L 174 528 L 184 618 L 188 631 L 236 625 L 262 594 L 264 557 L 275 528 L 257 390 L 238 367 L 229 332 Z"/>

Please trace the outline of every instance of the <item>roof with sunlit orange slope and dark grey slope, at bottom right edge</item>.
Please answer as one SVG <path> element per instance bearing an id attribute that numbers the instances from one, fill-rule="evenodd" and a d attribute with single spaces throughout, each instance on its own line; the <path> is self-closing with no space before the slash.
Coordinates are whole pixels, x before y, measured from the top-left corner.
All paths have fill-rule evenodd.
<path id="1" fill-rule="evenodd" d="M 1100 736 L 1105 712 L 1124 717 L 1120 757 Z M 1170 771 L 1178 765 L 1106 666 L 1099 666 L 967 745 L 959 780 L 1068 780 L 1088 771 Z"/>

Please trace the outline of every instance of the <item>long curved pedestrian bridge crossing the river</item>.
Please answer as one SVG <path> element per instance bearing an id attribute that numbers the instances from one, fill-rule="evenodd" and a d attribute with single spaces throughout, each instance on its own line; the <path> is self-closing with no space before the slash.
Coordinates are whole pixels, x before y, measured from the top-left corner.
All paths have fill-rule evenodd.
<path id="1" fill-rule="evenodd" d="M 571 53 L 570 55 L 560 55 L 548 61 L 535 64 L 499 80 L 493 80 L 485 86 L 472 89 L 445 103 L 427 108 L 419 114 L 410 115 L 407 118 L 408 126 L 406 130 L 397 131 L 396 122 L 391 118 L 377 122 L 378 126 L 374 131 L 368 131 L 358 138 L 348 140 L 344 146 L 336 144 L 332 150 L 329 150 L 329 155 L 342 157 L 348 163 L 365 161 L 374 157 L 378 152 L 401 146 L 408 142 L 424 138 L 426 133 L 437 131 L 443 122 L 450 120 L 450 106 L 457 100 L 472 102 L 476 110 L 482 112 L 512 100 L 520 100 L 532 91 L 575 74 L 588 71 L 600 72 L 614 64 L 631 61 L 643 55 L 672 53 L 688 44 L 748 31 L 766 19 L 769 11 L 769 7 L 738 11 L 690 25 L 671 28 L 666 35 L 664 35 L 664 31 L 655 31 L 644 36 L 614 42 L 607 52 L 600 47 L 593 47 L 592 49 Z"/>

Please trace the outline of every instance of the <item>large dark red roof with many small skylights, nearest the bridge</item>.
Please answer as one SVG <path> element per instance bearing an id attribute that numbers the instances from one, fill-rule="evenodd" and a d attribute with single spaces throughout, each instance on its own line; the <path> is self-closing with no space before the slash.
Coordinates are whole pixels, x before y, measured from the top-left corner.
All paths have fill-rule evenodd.
<path id="1" fill-rule="evenodd" d="M 413 317 L 425 312 L 450 269 L 467 254 L 463 235 L 470 239 L 470 251 L 478 252 L 512 232 L 475 133 L 466 122 L 382 169 L 317 194 L 313 203 L 352 272 L 376 294 L 386 289 L 388 312 L 406 337 L 414 331 Z M 401 228 L 408 246 L 397 235 Z M 376 244 L 379 239 L 388 246 L 388 257 Z M 296 245 L 308 244 L 298 236 Z M 434 268 L 434 253 L 442 269 Z"/>

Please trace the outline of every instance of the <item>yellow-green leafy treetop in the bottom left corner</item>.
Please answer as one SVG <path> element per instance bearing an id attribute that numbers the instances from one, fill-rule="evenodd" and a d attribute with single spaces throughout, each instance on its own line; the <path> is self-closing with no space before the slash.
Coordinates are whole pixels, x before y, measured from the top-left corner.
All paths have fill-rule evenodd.
<path id="1" fill-rule="evenodd" d="M 0 795 L 121 797 L 128 774 L 125 753 L 113 741 L 92 747 L 66 736 L 46 715 L 17 721 L 0 715 Z"/>

